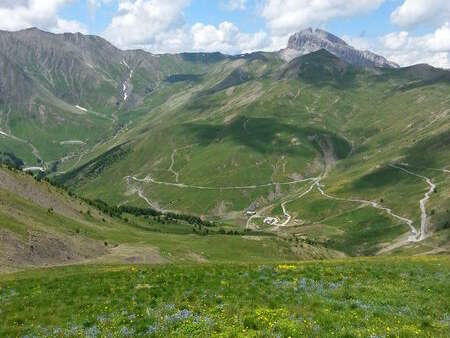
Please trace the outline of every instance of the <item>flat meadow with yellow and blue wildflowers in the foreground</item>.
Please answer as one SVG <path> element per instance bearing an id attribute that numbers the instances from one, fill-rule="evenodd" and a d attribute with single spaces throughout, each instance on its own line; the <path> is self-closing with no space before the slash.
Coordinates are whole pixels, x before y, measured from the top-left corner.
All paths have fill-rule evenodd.
<path id="1" fill-rule="evenodd" d="M 0 336 L 448 337 L 450 259 L 70 266 L 0 276 Z"/>

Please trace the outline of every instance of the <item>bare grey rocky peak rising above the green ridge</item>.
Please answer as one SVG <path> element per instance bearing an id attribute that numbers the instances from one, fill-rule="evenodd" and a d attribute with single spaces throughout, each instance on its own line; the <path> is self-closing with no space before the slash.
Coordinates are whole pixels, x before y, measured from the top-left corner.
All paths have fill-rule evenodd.
<path id="1" fill-rule="evenodd" d="M 325 49 L 338 58 L 361 67 L 398 68 L 398 65 L 370 51 L 361 51 L 348 45 L 344 40 L 324 30 L 308 28 L 289 38 L 286 49 L 280 51 L 283 59 L 292 59 Z"/>

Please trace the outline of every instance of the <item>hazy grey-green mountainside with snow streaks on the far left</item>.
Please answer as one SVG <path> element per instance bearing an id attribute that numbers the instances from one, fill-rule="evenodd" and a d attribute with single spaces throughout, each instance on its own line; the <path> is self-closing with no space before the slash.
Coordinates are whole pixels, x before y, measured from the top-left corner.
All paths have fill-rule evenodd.
<path id="1" fill-rule="evenodd" d="M 138 116 L 128 111 L 173 72 L 201 73 L 215 62 L 34 28 L 0 32 L 0 49 L 0 142 L 3 149 L 28 145 L 17 155 L 46 169 L 117 135 Z"/>

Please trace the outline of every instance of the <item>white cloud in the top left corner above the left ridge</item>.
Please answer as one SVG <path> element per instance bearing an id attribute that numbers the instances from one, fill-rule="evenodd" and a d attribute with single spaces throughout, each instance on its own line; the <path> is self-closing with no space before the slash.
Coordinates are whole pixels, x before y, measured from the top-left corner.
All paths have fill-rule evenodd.
<path id="1" fill-rule="evenodd" d="M 0 1 L 0 29 L 39 27 L 51 32 L 86 32 L 81 23 L 58 16 L 58 10 L 69 2 L 71 0 Z"/>

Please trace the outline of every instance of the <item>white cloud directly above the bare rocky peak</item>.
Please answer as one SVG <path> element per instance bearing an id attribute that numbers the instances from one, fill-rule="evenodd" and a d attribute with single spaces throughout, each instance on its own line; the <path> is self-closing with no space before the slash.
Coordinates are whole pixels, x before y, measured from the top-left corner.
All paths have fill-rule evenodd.
<path id="1" fill-rule="evenodd" d="M 378 8 L 384 0 L 265 0 L 262 16 L 273 35 L 291 34 L 333 18 L 351 17 Z"/>

